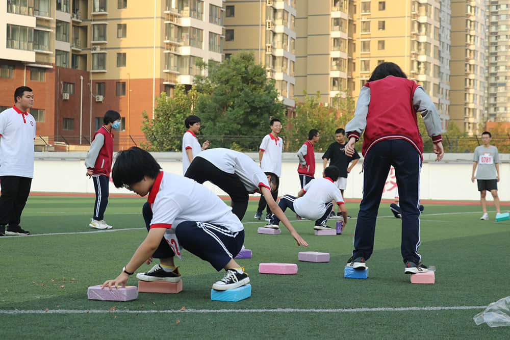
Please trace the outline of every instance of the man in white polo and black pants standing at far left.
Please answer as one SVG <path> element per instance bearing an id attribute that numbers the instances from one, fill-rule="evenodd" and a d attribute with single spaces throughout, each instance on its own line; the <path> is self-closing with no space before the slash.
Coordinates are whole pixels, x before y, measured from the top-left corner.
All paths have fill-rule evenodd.
<path id="1" fill-rule="evenodd" d="M 19 223 L 34 177 L 35 119 L 27 112 L 34 104 L 32 89 L 18 87 L 14 102 L 0 113 L 0 236 L 30 233 Z"/>

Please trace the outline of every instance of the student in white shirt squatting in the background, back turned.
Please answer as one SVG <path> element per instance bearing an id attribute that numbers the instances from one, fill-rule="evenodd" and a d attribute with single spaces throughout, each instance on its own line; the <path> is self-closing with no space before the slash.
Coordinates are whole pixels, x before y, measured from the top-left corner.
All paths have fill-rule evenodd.
<path id="1" fill-rule="evenodd" d="M 278 206 L 285 212 L 290 208 L 299 217 L 315 220 L 315 230 L 331 229 L 326 225 L 329 213 L 333 208 L 331 201 L 336 201 L 339 211 L 342 212 L 344 225 L 347 224 L 347 208 L 340 190 L 334 182 L 338 179 L 340 171 L 336 166 L 328 166 L 324 169 L 323 178 L 315 178 L 308 182 L 299 191 L 297 197 L 284 195 L 280 198 Z M 279 219 L 273 215 L 271 221 L 265 227 L 278 229 Z"/>

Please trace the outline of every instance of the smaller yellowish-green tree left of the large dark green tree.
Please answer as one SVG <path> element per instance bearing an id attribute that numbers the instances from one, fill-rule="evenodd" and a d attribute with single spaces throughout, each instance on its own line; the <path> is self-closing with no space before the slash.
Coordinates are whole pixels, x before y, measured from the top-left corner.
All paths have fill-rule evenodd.
<path id="1" fill-rule="evenodd" d="M 177 85 L 173 98 L 162 92 L 156 97 L 154 119 L 142 112 L 142 132 L 146 143 L 142 146 L 149 151 L 180 151 L 185 130 L 184 119 L 193 113 L 200 97 L 194 89 L 185 93 L 184 85 Z"/>

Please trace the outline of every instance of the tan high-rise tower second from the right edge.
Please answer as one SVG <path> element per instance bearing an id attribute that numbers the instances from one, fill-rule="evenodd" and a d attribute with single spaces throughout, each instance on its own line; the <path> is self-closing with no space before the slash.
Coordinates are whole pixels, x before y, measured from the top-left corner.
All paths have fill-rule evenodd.
<path id="1" fill-rule="evenodd" d="M 451 13 L 450 121 L 473 135 L 484 121 L 487 2 L 451 1 Z"/>

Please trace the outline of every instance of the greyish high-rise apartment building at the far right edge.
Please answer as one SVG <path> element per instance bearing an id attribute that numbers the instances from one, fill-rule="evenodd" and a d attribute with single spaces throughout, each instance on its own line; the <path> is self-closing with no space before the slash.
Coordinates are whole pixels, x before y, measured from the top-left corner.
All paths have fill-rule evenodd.
<path id="1" fill-rule="evenodd" d="M 491 0 L 487 13 L 487 107 L 489 121 L 510 121 L 510 1 Z"/>

